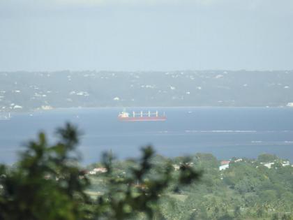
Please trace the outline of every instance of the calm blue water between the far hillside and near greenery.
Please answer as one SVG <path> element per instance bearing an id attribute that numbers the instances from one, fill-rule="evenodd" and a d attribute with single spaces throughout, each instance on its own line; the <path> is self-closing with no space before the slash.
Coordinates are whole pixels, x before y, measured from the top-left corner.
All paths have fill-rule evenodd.
<path id="1" fill-rule="evenodd" d="M 255 158 L 266 152 L 293 162 L 293 108 L 158 109 L 165 111 L 166 122 L 119 122 L 119 110 L 14 114 L 10 121 L 0 121 L 0 163 L 13 163 L 25 142 L 36 137 L 36 131 L 54 137 L 54 130 L 65 122 L 73 122 L 84 133 L 79 147 L 83 163 L 98 161 L 107 150 L 121 159 L 137 156 L 140 147 L 148 144 L 165 156 L 209 152 L 218 159 L 230 159 Z"/>

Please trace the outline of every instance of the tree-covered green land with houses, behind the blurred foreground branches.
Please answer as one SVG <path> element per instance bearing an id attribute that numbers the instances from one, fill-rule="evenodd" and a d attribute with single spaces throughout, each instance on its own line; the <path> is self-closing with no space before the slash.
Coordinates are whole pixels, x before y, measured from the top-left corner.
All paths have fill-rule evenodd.
<path id="1" fill-rule="evenodd" d="M 153 163 L 167 160 L 156 156 Z M 181 163 L 180 157 L 172 159 L 175 169 Z M 293 167 L 288 161 L 263 154 L 256 160 L 231 159 L 229 168 L 219 170 L 213 155 L 195 154 L 188 166 L 203 171 L 201 181 L 176 192 L 169 188 L 160 197 L 160 219 L 293 219 Z M 114 163 L 117 175 L 128 167 L 128 161 Z M 103 177 L 90 179 L 91 193 L 103 192 Z"/>

